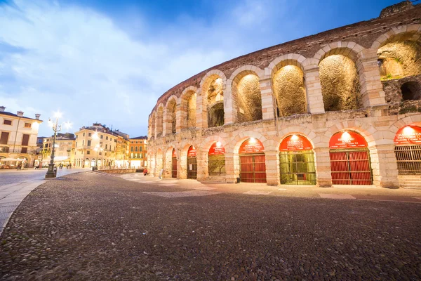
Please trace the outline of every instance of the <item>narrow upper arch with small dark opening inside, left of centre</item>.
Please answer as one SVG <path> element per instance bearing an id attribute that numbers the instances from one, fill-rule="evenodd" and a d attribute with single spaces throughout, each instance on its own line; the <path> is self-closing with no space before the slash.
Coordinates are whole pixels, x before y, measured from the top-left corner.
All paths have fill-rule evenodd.
<path id="1" fill-rule="evenodd" d="M 224 124 L 225 112 L 223 111 L 223 105 L 226 84 L 227 77 L 220 70 L 210 70 L 203 76 L 200 82 L 200 96 L 196 100 L 196 108 L 198 112 L 201 112 L 201 114 L 196 116 L 196 126 L 208 128 L 215 125 L 222 126 Z M 220 112 L 220 104 L 222 104 L 222 112 Z M 217 105 L 218 110 L 209 112 L 215 105 Z"/>

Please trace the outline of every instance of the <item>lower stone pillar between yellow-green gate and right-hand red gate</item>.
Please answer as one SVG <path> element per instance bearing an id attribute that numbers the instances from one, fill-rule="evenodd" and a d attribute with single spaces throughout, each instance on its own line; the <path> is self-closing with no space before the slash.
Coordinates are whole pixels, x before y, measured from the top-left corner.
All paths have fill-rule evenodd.
<path id="1" fill-rule="evenodd" d="M 314 148 L 316 157 L 317 186 L 328 188 L 332 186 L 332 171 L 330 171 L 329 148 Z"/>

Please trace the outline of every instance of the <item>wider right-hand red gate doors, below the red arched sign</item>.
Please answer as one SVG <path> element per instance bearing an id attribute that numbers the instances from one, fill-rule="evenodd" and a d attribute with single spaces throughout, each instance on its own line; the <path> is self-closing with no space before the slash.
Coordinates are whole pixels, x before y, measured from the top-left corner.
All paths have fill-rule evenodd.
<path id="1" fill-rule="evenodd" d="M 332 183 L 337 185 L 372 185 L 368 149 L 330 150 Z"/>

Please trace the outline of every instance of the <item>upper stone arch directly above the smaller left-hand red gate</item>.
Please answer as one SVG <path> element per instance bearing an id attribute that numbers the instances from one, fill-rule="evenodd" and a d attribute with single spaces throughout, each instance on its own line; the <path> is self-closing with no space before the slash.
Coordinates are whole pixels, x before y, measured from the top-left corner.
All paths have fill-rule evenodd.
<path id="1" fill-rule="evenodd" d="M 254 65 L 244 65 L 235 70 L 229 81 L 232 97 L 232 114 L 235 122 L 250 122 L 262 119 L 262 92 L 260 79 L 264 70 Z"/>

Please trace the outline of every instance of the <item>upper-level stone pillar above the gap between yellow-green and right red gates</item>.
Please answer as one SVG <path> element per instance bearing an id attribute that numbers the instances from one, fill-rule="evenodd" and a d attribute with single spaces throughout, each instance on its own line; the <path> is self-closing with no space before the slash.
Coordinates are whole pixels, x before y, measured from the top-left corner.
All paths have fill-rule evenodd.
<path id="1" fill-rule="evenodd" d="M 323 114 L 324 103 L 321 93 L 321 84 L 319 77 L 319 66 L 309 65 L 304 70 L 305 93 L 307 98 L 307 112 L 311 114 Z"/>

